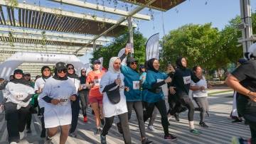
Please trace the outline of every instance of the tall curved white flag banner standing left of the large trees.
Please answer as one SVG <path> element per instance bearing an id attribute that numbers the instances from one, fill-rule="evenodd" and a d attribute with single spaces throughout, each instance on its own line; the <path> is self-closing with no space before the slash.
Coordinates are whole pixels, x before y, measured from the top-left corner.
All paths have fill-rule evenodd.
<path id="1" fill-rule="evenodd" d="M 152 35 L 146 42 L 146 60 L 159 60 L 159 33 Z"/>

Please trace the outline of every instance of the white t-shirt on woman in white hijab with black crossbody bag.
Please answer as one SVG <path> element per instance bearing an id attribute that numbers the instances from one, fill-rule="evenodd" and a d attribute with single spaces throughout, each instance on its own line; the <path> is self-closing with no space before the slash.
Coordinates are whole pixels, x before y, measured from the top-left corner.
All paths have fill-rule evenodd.
<path id="1" fill-rule="evenodd" d="M 117 79 L 118 74 L 114 74 L 112 72 L 106 72 L 100 81 L 100 92 L 105 89 L 105 87 L 109 84 L 114 83 L 114 80 Z M 122 84 L 120 85 L 120 101 L 118 104 L 112 104 L 110 102 L 110 99 L 108 99 L 106 92 L 104 92 L 103 96 L 103 113 L 106 118 L 110 118 L 111 116 L 117 116 L 122 113 L 127 112 L 127 104 L 126 104 L 126 97 L 124 96 L 124 74 L 120 73 L 120 79 L 122 81 Z M 110 89 L 116 89 L 118 86 Z"/>

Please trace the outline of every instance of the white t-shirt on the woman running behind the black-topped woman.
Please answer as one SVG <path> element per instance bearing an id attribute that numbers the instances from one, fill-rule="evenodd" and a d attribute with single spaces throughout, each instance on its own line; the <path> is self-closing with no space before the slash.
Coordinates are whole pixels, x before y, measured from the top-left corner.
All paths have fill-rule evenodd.
<path id="1" fill-rule="evenodd" d="M 198 91 L 193 91 L 193 97 L 205 97 L 208 96 L 207 94 L 207 82 L 206 82 L 206 78 L 203 77 L 203 79 L 200 79 L 199 82 L 195 83 L 193 82 L 193 80 L 191 79 L 191 86 L 194 87 L 205 87 L 206 90 L 198 90 Z"/>

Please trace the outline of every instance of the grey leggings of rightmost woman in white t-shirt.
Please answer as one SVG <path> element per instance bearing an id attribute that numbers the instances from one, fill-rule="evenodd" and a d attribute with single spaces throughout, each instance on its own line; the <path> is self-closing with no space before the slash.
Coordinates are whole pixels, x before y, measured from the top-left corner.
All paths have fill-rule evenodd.
<path id="1" fill-rule="evenodd" d="M 193 97 L 193 99 L 196 101 L 196 104 L 198 105 L 198 107 L 201 110 L 201 112 L 200 112 L 201 122 L 204 122 L 204 118 L 206 116 L 206 111 L 209 111 L 209 105 L 208 105 L 206 96 L 205 97 Z"/>

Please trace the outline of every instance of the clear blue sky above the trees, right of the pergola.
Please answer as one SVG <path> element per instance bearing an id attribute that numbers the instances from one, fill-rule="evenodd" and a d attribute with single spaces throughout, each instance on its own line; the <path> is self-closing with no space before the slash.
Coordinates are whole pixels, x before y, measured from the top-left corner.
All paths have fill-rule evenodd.
<path id="1" fill-rule="evenodd" d="M 250 3 L 252 11 L 255 12 L 256 0 L 250 0 Z M 154 21 L 144 21 L 139 23 L 138 27 L 145 38 L 149 38 L 154 33 L 159 33 L 160 38 L 162 38 L 164 31 L 165 34 L 168 34 L 169 31 L 188 23 L 212 22 L 213 28 L 218 28 L 221 31 L 225 25 L 228 25 L 228 21 L 236 15 L 240 16 L 240 0 L 186 0 L 175 8 L 164 12 L 164 18 L 160 12 L 154 16 Z M 164 20 L 164 29 L 162 20 Z M 88 53 L 80 57 L 80 60 L 83 63 L 88 63 L 90 58 L 92 55 Z"/>

